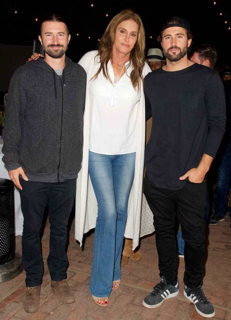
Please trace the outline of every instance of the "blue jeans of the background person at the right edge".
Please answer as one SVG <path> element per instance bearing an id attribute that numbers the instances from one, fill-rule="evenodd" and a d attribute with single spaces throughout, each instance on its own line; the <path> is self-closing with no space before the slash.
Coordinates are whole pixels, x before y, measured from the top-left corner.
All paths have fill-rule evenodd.
<path id="1" fill-rule="evenodd" d="M 217 184 L 214 192 L 216 195 L 214 209 L 222 218 L 227 212 L 227 192 L 231 173 L 231 143 L 229 142 L 225 147 L 218 168 Z M 231 213 L 229 213 L 229 216 L 231 218 Z"/>

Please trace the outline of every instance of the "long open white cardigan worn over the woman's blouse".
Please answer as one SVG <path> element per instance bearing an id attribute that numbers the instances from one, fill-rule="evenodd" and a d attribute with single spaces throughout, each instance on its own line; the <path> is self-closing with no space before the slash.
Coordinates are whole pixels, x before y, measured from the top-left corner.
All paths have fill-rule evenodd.
<path id="1" fill-rule="evenodd" d="M 91 179 L 88 174 L 88 151 L 90 133 L 90 98 L 89 81 L 95 75 L 100 64 L 99 60 L 94 59 L 98 51 L 87 52 L 79 61 L 87 74 L 86 84 L 86 104 L 84 111 L 84 143 L 83 143 L 83 162 L 82 168 L 78 173 L 76 208 L 75 208 L 75 238 L 82 245 L 83 234 L 95 228 L 98 213 L 97 201 L 92 187 Z M 98 58 L 98 57 L 97 57 Z M 143 76 L 151 72 L 148 64 L 145 63 Z M 145 148 L 145 100 L 144 89 L 141 84 L 141 97 L 138 103 L 137 113 L 137 143 L 136 143 L 136 162 L 135 176 L 131 187 L 128 202 L 128 217 L 124 236 L 133 239 L 133 250 L 138 246 L 140 233 L 140 215 L 142 201 L 142 184 L 144 172 L 144 148 Z"/>

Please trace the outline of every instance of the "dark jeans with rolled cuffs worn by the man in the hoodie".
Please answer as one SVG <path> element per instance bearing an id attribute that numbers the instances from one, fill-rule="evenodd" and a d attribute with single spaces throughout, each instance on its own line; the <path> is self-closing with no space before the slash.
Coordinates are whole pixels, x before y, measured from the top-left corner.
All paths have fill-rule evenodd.
<path id="1" fill-rule="evenodd" d="M 50 277 L 54 281 L 66 279 L 67 224 L 76 194 L 76 179 L 64 182 L 36 182 L 20 179 L 21 209 L 23 213 L 22 261 L 26 270 L 26 286 L 42 283 L 43 260 L 40 230 L 46 205 L 49 207 L 50 252 L 47 258 Z"/>

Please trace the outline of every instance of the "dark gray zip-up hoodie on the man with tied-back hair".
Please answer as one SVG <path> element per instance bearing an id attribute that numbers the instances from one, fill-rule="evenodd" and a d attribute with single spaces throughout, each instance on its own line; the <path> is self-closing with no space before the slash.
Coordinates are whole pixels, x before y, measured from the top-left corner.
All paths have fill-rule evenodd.
<path id="1" fill-rule="evenodd" d="M 65 58 L 62 76 L 42 59 L 11 78 L 4 124 L 3 162 L 20 166 L 32 181 L 62 182 L 78 176 L 83 150 L 86 72 Z"/>

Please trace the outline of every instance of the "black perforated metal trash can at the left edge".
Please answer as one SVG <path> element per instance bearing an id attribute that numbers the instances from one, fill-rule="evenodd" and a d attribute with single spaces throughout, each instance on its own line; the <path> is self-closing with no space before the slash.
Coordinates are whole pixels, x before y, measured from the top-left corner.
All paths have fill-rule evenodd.
<path id="1" fill-rule="evenodd" d="M 15 254 L 14 185 L 0 178 L 0 283 L 22 271 L 22 257 Z"/>

